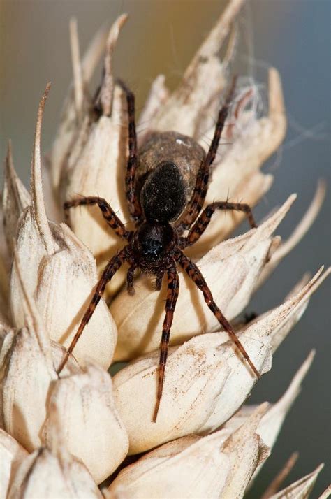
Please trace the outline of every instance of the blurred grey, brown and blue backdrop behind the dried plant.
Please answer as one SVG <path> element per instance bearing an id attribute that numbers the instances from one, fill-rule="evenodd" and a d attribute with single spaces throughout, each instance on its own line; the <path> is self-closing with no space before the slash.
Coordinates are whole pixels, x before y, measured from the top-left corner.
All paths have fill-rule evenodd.
<path id="1" fill-rule="evenodd" d="M 13 140 L 15 167 L 26 183 L 38 101 L 52 81 L 43 123 L 43 151 L 52 145 L 59 112 L 71 80 L 68 21 L 78 18 L 81 53 L 105 22 L 127 12 L 115 55 L 115 72 L 137 96 L 138 109 L 159 73 L 175 88 L 198 45 L 223 10 L 224 0 L 90 0 L 0 3 L 0 152 Z M 274 175 L 272 189 L 254 212 L 259 220 L 289 194 L 298 199 L 281 224 L 288 236 L 314 196 L 318 178 L 330 189 L 330 8 L 329 0 L 251 0 L 238 20 L 240 45 L 236 68 L 258 82 L 267 69 L 281 73 L 288 113 L 283 147 L 265 165 Z M 97 79 L 100 71 L 97 71 Z M 266 92 L 265 92 L 266 93 Z M 230 186 L 229 186 L 230 187 Z M 246 229 L 245 229 L 246 230 Z M 300 277 L 330 263 L 330 195 L 318 219 L 295 250 L 281 263 L 250 311 L 277 305 Z M 312 348 L 313 366 L 304 389 L 290 411 L 272 456 L 259 475 L 250 498 L 259 497 L 271 479 L 297 450 L 300 458 L 286 484 L 324 462 L 314 497 L 330 479 L 330 290 L 323 284 L 307 312 L 274 357 L 274 368 L 258 383 L 250 403 L 276 401 Z"/>

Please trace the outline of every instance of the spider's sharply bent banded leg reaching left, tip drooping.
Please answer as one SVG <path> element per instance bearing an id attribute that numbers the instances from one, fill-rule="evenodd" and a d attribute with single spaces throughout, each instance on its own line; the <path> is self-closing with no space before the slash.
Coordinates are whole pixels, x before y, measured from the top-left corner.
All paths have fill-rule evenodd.
<path id="1" fill-rule="evenodd" d="M 71 201 L 66 201 L 64 203 L 64 219 L 66 224 L 70 227 L 70 217 L 69 217 L 69 209 L 75 208 L 76 206 L 93 206 L 98 205 L 103 214 L 103 218 L 108 223 L 113 231 L 123 239 L 128 239 L 131 236 L 131 231 L 126 230 L 123 222 L 117 217 L 116 213 L 110 205 L 103 198 L 99 198 L 98 196 L 80 196 L 79 198 L 74 198 Z"/>

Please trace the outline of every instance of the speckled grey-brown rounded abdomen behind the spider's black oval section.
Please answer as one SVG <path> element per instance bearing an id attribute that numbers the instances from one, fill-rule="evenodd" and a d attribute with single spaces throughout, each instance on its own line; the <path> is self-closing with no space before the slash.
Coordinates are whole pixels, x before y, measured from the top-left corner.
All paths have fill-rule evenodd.
<path id="1" fill-rule="evenodd" d="M 176 131 L 152 132 L 140 147 L 137 187 L 144 183 L 147 173 L 161 161 L 172 161 L 184 179 L 186 200 L 189 201 L 196 185 L 196 175 L 205 159 L 205 151 L 196 140 Z"/>

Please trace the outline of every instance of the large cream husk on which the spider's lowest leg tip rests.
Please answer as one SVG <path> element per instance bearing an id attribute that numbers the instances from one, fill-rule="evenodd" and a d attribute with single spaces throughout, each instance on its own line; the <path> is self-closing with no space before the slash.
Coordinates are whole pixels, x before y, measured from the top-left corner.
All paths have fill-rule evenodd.
<path id="1" fill-rule="evenodd" d="M 240 332 L 240 341 L 261 374 L 270 370 L 274 345 L 286 337 L 289 324 L 293 326 L 301 317 L 309 296 L 328 273 L 330 270 L 323 275 L 318 272 L 295 296 Z M 189 433 L 205 434 L 219 428 L 256 383 L 227 333 L 196 336 L 170 349 L 159 415 L 152 423 L 158 361 L 158 352 L 149 354 L 128 364 L 113 380 L 130 454 Z"/>

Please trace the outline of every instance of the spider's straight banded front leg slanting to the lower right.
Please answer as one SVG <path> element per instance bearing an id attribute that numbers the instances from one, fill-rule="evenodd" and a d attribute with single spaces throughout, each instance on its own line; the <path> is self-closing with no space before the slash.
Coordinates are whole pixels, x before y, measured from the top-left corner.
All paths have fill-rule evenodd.
<path id="1" fill-rule="evenodd" d="M 176 260 L 178 261 L 179 265 L 185 270 L 186 274 L 189 275 L 191 280 L 196 284 L 196 286 L 200 289 L 200 291 L 203 292 L 203 296 L 205 298 L 205 302 L 207 303 L 208 307 L 210 310 L 212 310 L 212 313 L 216 317 L 216 319 L 219 321 L 219 324 L 227 331 L 229 334 L 231 340 L 235 343 L 235 346 L 237 349 L 240 351 L 244 359 L 247 361 L 249 364 L 249 367 L 253 371 L 253 373 L 256 375 L 256 377 L 260 378 L 260 373 L 254 366 L 253 362 L 251 359 L 249 359 L 249 355 L 247 354 L 246 350 L 244 349 L 242 343 L 240 340 L 237 338 L 237 335 L 235 334 L 235 331 L 233 331 L 232 326 L 230 323 L 227 321 L 227 319 L 223 316 L 221 310 L 219 310 L 218 306 L 214 302 L 214 298 L 212 297 L 212 291 L 210 291 L 209 287 L 207 286 L 207 282 L 205 282 L 205 278 L 203 277 L 202 273 L 198 269 L 195 263 L 190 261 L 187 256 L 182 252 L 178 251 L 177 255 L 175 256 Z"/>

